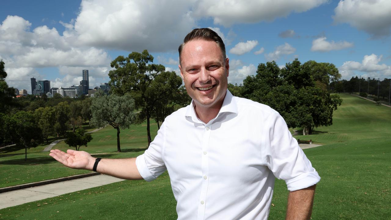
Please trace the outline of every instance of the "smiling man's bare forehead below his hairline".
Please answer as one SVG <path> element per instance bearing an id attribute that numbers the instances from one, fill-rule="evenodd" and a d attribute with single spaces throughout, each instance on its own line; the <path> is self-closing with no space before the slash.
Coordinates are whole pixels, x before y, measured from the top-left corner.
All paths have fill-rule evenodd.
<path id="1" fill-rule="evenodd" d="M 202 39 L 191 40 L 183 47 L 181 62 L 190 64 L 196 61 L 224 61 L 224 57 L 216 42 Z"/>

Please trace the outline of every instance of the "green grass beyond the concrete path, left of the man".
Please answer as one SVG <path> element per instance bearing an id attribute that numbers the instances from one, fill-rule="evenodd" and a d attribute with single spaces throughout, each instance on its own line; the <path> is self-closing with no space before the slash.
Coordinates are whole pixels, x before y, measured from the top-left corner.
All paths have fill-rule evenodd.
<path id="1" fill-rule="evenodd" d="M 93 128 L 89 128 L 89 130 L 93 130 Z M 152 124 L 152 138 L 154 138 L 156 132 L 157 125 Z M 117 130 L 111 126 L 92 133 L 92 137 L 93 140 L 88 146 L 82 146 L 80 150 L 87 151 L 96 157 L 136 157 L 147 148 L 145 123 L 131 126 L 130 129 L 121 130 L 120 143 L 122 153 L 117 152 Z M 27 161 L 24 160 L 24 149 L 13 151 L 11 148 L 0 153 L 0 188 L 91 172 L 72 170 L 63 166 L 52 159 L 49 156 L 49 152 L 41 152 L 44 148 L 45 146 L 38 146 L 28 149 Z M 52 149 L 66 151 L 66 149 L 69 149 L 69 146 L 64 141 L 61 141 Z"/>

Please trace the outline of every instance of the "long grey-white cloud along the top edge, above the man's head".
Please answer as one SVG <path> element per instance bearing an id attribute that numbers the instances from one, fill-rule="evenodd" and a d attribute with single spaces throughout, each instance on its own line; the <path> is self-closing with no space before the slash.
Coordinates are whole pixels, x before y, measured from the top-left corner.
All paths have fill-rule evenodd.
<path id="1" fill-rule="evenodd" d="M 200 0 L 194 14 L 197 17 L 212 17 L 215 24 L 228 27 L 234 23 L 256 23 L 272 21 L 292 13 L 301 13 L 318 7 L 328 0 Z"/>

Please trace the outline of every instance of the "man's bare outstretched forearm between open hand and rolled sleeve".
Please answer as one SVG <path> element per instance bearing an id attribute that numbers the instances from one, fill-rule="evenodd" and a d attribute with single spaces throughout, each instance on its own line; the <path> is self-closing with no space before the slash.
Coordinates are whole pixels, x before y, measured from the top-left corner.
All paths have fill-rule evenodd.
<path id="1" fill-rule="evenodd" d="M 88 170 L 92 170 L 95 158 L 88 165 Z M 128 180 L 143 179 L 136 167 L 136 158 L 127 159 L 101 159 L 97 166 L 97 172 L 113 177 Z"/>

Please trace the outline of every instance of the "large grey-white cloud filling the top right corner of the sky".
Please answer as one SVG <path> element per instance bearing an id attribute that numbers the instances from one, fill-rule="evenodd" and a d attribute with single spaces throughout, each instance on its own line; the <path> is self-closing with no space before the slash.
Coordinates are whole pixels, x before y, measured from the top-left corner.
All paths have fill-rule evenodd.
<path id="1" fill-rule="evenodd" d="M 389 0 L 342 0 L 334 9 L 333 18 L 334 22 L 348 23 L 378 38 L 390 35 L 390 12 Z"/>

